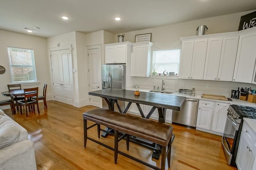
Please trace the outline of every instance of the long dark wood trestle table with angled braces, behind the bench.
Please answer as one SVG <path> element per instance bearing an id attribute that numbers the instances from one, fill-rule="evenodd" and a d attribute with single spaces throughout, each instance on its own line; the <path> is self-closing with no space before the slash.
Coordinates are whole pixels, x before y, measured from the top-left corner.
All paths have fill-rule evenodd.
<path id="1" fill-rule="evenodd" d="M 97 90 L 94 92 L 89 92 L 89 95 L 99 96 L 103 98 L 108 104 L 108 109 L 114 111 L 114 105 L 118 106 L 118 109 L 121 113 L 126 113 L 131 106 L 132 103 L 136 103 L 138 110 L 142 117 L 149 119 L 155 109 L 158 109 L 158 121 L 165 123 L 166 109 L 180 110 L 182 104 L 186 100 L 186 97 L 182 96 L 174 96 L 170 94 L 160 94 L 153 92 L 140 92 L 139 96 L 134 95 L 134 91 L 132 90 L 123 90 L 123 89 L 115 89 L 108 88 L 103 90 Z M 117 100 L 128 102 L 128 105 L 124 110 L 122 110 L 117 102 Z M 145 117 L 140 104 L 152 106 L 152 109 Z M 110 131 L 110 129 L 106 128 L 106 131 Z M 102 134 L 103 135 L 103 134 Z M 107 135 L 107 134 L 104 134 Z M 138 141 L 138 140 L 135 140 Z M 145 144 L 144 141 L 140 141 L 140 143 Z M 146 144 L 147 145 L 147 144 Z M 150 144 L 148 144 L 150 145 Z M 155 145 L 154 148 L 158 148 L 160 150 L 160 146 Z M 155 150 L 154 150 L 155 151 Z M 153 152 L 152 158 L 159 159 L 160 152 Z"/>

